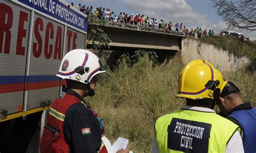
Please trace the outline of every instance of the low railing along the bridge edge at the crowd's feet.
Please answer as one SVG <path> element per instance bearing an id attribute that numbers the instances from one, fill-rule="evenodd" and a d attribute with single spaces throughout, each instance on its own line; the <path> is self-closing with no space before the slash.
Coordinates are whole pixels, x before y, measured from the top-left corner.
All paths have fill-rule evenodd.
<path id="1" fill-rule="evenodd" d="M 132 29 L 132 30 L 151 31 L 151 32 L 157 32 L 157 33 L 165 33 L 165 34 L 174 34 L 174 35 L 183 35 L 183 36 L 185 36 L 182 32 L 173 31 L 173 30 L 170 30 L 170 29 L 158 28 L 158 27 L 118 23 L 118 22 L 114 22 L 114 21 L 106 21 L 105 25 L 106 26 L 112 26 L 112 27 L 128 28 L 128 29 Z"/>

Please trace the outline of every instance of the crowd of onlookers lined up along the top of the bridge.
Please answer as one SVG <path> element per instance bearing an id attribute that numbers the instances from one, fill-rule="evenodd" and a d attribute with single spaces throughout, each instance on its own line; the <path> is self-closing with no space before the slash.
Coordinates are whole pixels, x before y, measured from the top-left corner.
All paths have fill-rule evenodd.
<path id="1" fill-rule="evenodd" d="M 72 6 L 73 3 L 71 3 Z M 75 6 L 74 6 L 75 7 Z M 99 19 L 105 19 L 106 22 L 113 22 L 113 23 L 119 23 L 119 24 L 128 24 L 133 25 L 139 28 L 145 28 L 149 27 L 149 30 L 162 30 L 165 33 L 171 33 L 172 31 L 179 32 L 181 35 L 186 35 L 194 38 L 201 38 L 201 37 L 207 37 L 207 36 L 213 36 L 214 30 L 203 29 L 202 27 L 197 28 L 191 28 L 189 30 L 183 23 L 177 22 L 176 24 L 173 24 L 172 21 L 169 21 L 169 23 L 165 22 L 163 19 L 160 19 L 159 21 L 157 18 L 154 17 L 148 17 L 144 14 L 127 14 L 125 12 L 120 12 L 118 14 L 114 13 L 114 11 L 110 9 L 105 9 L 102 7 L 98 7 L 93 12 L 92 6 L 86 6 L 81 5 L 80 3 L 75 7 L 77 10 L 80 10 L 84 12 L 85 14 L 94 14 Z"/>

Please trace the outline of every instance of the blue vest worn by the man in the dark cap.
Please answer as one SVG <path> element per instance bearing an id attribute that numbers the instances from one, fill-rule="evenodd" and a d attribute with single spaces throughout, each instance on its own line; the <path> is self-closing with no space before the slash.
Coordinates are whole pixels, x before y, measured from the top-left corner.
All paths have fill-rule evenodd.
<path id="1" fill-rule="evenodd" d="M 235 118 L 244 130 L 245 152 L 256 152 L 256 108 L 234 111 L 230 117 Z"/>

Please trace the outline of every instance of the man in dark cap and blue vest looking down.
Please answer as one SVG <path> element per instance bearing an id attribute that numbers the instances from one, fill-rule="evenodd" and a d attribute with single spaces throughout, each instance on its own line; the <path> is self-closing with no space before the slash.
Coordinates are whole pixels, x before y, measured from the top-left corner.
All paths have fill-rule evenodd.
<path id="1" fill-rule="evenodd" d="M 228 81 L 217 104 L 227 119 L 240 127 L 245 152 L 256 152 L 256 108 L 250 102 L 244 103 L 239 92 L 239 88 Z"/>

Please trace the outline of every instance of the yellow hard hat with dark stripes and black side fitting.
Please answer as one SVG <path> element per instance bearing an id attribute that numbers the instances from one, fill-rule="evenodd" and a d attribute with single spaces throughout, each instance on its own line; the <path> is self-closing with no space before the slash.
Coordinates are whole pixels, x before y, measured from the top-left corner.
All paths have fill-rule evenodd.
<path id="1" fill-rule="evenodd" d="M 193 60 L 180 72 L 177 97 L 217 99 L 227 81 L 221 72 L 205 60 Z"/>

